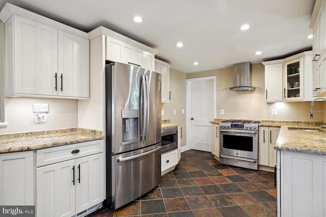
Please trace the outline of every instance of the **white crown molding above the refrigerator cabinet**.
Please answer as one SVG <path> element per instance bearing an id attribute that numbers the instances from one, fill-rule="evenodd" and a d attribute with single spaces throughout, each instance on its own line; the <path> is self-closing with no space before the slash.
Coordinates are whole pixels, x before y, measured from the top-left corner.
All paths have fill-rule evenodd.
<path id="1" fill-rule="evenodd" d="M 98 36 L 101 36 L 101 35 L 105 35 L 105 36 L 112 37 L 114 39 L 120 40 L 120 41 L 122 41 L 124 43 L 132 45 L 134 47 L 138 47 L 138 48 L 140 48 L 142 50 L 145 50 L 145 51 L 147 51 L 149 53 L 153 53 L 154 55 L 156 53 L 158 53 L 158 50 L 155 50 L 154 48 L 151 48 L 151 47 L 149 47 L 147 45 L 144 45 L 144 44 L 142 44 L 142 43 L 140 43 L 138 41 L 130 39 L 130 38 L 128 38 L 126 36 L 123 36 L 123 35 L 121 35 L 119 33 L 116 33 L 111 29 L 105 28 L 104 26 L 99 26 L 99 27 L 93 29 L 91 32 L 88 33 L 88 38 L 89 38 L 89 40 L 92 40 L 92 39 L 94 39 L 94 38 L 96 38 Z"/>

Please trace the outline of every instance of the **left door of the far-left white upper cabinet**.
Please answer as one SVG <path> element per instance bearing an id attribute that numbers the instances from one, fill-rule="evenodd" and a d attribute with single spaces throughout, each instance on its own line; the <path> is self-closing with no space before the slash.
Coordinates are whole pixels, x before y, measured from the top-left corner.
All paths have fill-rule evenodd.
<path id="1" fill-rule="evenodd" d="M 14 19 L 15 67 L 10 73 L 14 73 L 15 94 L 56 94 L 58 30 L 16 15 Z"/>

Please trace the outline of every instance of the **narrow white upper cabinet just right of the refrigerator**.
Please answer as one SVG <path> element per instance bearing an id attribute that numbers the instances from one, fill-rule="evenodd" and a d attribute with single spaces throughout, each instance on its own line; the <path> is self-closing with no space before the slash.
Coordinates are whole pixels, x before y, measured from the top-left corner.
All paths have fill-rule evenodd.
<path id="1" fill-rule="evenodd" d="M 161 74 L 161 102 L 169 103 L 171 100 L 171 91 L 170 91 L 170 65 L 155 59 L 155 72 Z"/>

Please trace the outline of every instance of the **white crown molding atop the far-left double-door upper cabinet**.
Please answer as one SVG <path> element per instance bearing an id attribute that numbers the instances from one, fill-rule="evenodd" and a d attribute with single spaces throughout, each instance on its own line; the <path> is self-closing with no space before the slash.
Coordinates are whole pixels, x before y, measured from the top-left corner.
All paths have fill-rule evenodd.
<path id="1" fill-rule="evenodd" d="M 82 30 L 73 28 L 71 26 L 68 26 L 66 24 L 63 24 L 61 22 L 49 19 L 47 17 L 41 16 L 39 14 L 36 14 L 34 12 L 25 10 L 23 8 L 19 8 L 15 5 L 12 5 L 10 3 L 6 3 L 4 8 L 0 12 L 0 19 L 6 23 L 7 20 L 12 16 L 12 15 L 18 15 L 20 17 L 32 20 L 34 22 L 38 22 L 47 26 L 50 26 L 52 28 L 57 28 L 59 30 L 62 30 L 66 33 L 70 33 L 72 35 L 88 39 L 87 33 L 83 32 Z"/>

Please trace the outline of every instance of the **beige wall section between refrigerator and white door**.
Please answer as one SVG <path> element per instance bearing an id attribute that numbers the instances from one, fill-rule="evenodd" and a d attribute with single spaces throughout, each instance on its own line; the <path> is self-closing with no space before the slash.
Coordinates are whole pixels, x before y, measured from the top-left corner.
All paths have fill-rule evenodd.
<path id="1" fill-rule="evenodd" d="M 162 109 L 164 110 L 163 119 L 170 119 L 172 122 L 181 123 L 182 127 L 182 140 L 181 146 L 186 145 L 186 125 L 185 125 L 185 110 L 186 110 L 186 74 L 170 69 L 170 90 L 171 101 L 170 103 L 162 103 Z M 173 110 L 176 110 L 176 114 L 173 114 Z M 181 110 L 184 109 L 184 114 Z"/>

